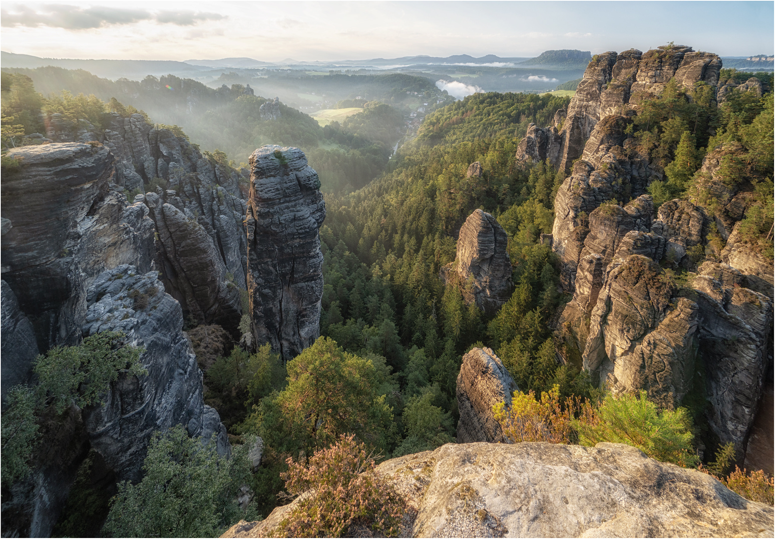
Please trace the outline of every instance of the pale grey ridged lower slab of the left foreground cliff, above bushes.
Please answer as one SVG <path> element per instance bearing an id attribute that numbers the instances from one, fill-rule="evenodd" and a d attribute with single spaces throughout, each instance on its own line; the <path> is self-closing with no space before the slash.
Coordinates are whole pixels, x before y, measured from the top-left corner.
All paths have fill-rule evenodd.
<path id="1" fill-rule="evenodd" d="M 101 273 L 88 290 L 84 337 L 123 331 L 145 348 L 140 362 L 148 375 L 119 377 L 102 407 L 84 410 L 91 446 L 119 480 L 139 480 L 151 434 L 176 424 L 191 436 L 215 432 L 219 452 L 229 451 L 218 412 L 202 401 L 202 371 L 182 331 L 181 306 L 157 277 L 123 265 Z"/>

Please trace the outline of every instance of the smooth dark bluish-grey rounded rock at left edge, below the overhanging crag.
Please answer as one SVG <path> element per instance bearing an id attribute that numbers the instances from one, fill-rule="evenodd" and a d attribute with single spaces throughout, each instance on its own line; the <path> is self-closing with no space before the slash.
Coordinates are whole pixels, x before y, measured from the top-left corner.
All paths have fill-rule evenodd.
<path id="1" fill-rule="evenodd" d="M 38 355 L 38 344 L 33 324 L 19 309 L 16 294 L 4 280 L 0 281 L 0 346 L 2 346 L 2 401 L 5 393 L 16 384 L 28 383 L 33 371 L 33 359 Z"/>

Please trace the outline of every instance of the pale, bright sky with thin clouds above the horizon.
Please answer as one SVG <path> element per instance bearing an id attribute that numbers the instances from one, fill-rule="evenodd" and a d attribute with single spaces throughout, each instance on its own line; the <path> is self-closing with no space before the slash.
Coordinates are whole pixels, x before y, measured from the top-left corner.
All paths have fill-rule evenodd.
<path id="1" fill-rule="evenodd" d="M 366 60 L 773 53 L 773 2 L 2 2 L 0 48 L 52 58 Z"/>

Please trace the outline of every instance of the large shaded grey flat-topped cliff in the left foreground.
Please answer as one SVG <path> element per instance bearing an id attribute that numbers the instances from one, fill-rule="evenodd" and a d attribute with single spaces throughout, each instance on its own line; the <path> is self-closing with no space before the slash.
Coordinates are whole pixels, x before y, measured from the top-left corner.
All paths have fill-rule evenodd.
<path id="1" fill-rule="evenodd" d="M 128 204 L 112 183 L 112 153 L 99 143 L 68 142 L 9 154 L 20 168 L 2 177 L 2 334 L 4 352 L 19 348 L 2 355 L 3 391 L 29 379 L 39 350 L 103 330 L 126 331 L 146 348 L 140 360 L 149 371 L 119 379 L 103 407 L 71 407 L 51 418 L 45 455 L 3 503 L 4 533 L 12 522 L 8 530 L 41 537 L 57 521 L 89 447 L 117 477 L 133 480 L 153 431 L 182 423 L 191 434 L 218 433 L 221 450 L 229 448 L 218 414 L 203 406 L 181 306 L 153 271 L 150 210 Z"/>

